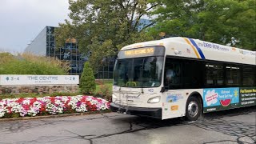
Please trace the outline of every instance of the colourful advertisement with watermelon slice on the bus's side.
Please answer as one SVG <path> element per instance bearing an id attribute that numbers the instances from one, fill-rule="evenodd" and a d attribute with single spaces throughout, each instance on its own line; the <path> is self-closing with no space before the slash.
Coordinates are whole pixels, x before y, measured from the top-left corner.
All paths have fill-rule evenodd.
<path id="1" fill-rule="evenodd" d="M 227 110 L 256 103 L 255 87 L 203 89 L 203 111 Z"/>

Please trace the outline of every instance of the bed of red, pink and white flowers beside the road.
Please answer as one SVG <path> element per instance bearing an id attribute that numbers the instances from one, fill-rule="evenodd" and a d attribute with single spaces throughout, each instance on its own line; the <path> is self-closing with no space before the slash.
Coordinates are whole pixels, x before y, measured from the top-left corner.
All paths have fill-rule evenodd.
<path id="1" fill-rule="evenodd" d="M 92 96 L 56 96 L 43 98 L 6 98 L 0 100 L 0 118 L 47 114 L 70 114 L 109 110 L 110 102 Z"/>

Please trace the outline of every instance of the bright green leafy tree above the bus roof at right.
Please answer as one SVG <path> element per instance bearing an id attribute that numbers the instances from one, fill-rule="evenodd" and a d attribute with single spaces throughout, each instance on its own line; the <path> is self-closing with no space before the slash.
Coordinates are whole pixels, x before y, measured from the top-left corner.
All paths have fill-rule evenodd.
<path id="1" fill-rule="evenodd" d="M 253 0 L 152 0 L 158 24 L 151 35 L 198 38 L 256 50 L 256 12 Z"/>

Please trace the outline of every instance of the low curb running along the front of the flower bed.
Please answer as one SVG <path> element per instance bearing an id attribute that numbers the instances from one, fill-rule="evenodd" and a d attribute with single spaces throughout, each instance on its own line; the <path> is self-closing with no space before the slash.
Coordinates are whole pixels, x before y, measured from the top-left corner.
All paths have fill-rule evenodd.
<path id="1" fill-rule="evenodd" d="M 42 115 L 42 116 L 23 117 L 23 118 L 0 118 L 0 122 L 19 121 L 19 120 L 31 120 L 31 119 L 42 119 L 42 118 L 62 118 L 62 117 L 70 117 L 70 116 L 81 116 L 81 115 L 90 115 L 90 114 L 105 114 L 105 113 L 111 113 L 111 111 L 107 110 L 107 111 L 94 111 L 94 112 L 87 112 L 87 113 Z"/>

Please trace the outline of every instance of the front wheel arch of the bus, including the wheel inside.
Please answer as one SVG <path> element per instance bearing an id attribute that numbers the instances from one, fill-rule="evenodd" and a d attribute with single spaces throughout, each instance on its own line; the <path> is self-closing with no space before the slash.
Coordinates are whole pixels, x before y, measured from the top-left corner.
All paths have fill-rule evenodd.
<path id="1" fill-rule="evenodd" d="M 186 120 L 195 121 L 202 115 L 202 96 L 193 92 L 186 100 Z"/>

